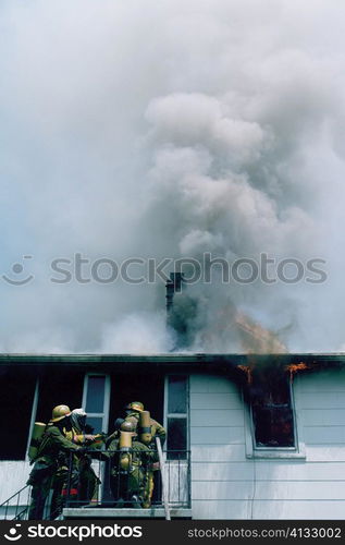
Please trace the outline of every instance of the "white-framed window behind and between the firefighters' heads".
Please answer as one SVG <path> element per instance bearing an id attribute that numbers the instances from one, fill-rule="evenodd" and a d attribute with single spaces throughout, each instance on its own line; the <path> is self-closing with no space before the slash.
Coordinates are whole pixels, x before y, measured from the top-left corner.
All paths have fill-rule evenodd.
<path id="1" fill-rule="evenodd" d="M 87 413 L 86 424 L 98 434 L 108 431 L 110 401 L 110 378 L 108 375 L 88 374 L 85 376 L 83 408 Z"/>

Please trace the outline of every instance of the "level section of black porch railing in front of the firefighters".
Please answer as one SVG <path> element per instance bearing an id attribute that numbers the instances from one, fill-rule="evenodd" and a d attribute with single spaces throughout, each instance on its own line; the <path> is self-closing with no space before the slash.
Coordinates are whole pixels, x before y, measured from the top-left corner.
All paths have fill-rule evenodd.
<path id="1" fill-rule="evenodd" d="M 89 455 L 86 455 L 89 456 Z M 66 507 L 145 507 L 145 489 L 151 481 L 152 507 L 163 506 L 161 467 L 157 461 L 148 462 L 146 455 L 132 455 L 126 469 L 120 450 L 93 452 L 86 469 L 81 472 L 81 461 L 71 457 Z M 171 508 L 190 508 L 190 452 L 187 450 L 163 451 L 163 479 L 165 498 Z M 83 463 L 83 461 L 82 461 Z M 97 485 L 94 486 L 95 479 Z M 77 486 L 75 486 L 77 483 Z"/>

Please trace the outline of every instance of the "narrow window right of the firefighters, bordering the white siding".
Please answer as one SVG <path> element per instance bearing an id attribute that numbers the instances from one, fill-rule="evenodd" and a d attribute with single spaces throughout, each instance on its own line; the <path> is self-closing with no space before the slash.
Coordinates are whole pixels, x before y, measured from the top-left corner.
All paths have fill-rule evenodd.
<path id="1" fill-rule="evenodd" d="M 186 458 L 188 449 L 188 378 L 169 375 L 165 382 L 168 459 Z"/>

